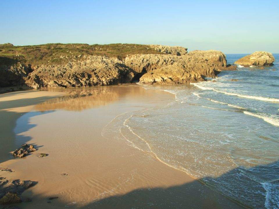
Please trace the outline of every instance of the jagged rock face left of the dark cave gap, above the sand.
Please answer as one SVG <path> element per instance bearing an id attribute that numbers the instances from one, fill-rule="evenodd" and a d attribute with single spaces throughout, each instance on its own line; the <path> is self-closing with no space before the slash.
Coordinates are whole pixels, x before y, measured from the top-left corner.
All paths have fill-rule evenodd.
<path id="1" fill-rule="evenodd" d="M 26 78 L 33 88 L 102 86 L 130 82 L 134 74 L 117 58 L 87 56 L 67 64 L 42 65 Z"/>

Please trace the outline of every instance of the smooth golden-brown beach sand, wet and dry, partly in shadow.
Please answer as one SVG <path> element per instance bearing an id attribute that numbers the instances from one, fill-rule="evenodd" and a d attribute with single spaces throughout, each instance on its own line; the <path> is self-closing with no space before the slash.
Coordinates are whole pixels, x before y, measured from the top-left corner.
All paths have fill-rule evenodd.
<path id="1" fill-rule="evenodd" d="M 21 196 L 32 202 L 16 206 L 242 208 L 127 140 L 102 135 L 104 127 L 121 113 L 173 100 L 170 93 L 136 84 L 0 95 L 0 167 L 15 171 L 0 175 L 38 181 Z M 8 152 L 23 143 L 34 144 L 38 150 L 13 159 Z M 39 153 L 49 156 L 39 158 Z M 59 198 L 47 203 L 52 196 Z"/>

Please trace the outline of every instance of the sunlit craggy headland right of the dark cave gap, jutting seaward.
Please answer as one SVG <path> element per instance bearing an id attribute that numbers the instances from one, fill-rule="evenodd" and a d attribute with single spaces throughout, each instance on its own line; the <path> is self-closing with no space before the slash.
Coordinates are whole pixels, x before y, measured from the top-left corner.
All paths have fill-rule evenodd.
<path id="1" fill-rule="evenodd" d="M 215 77 L 217 71 L 226 68 L 226 56 L 215 50 L 193 51 L 186 55 L 133 55 L 125 64 L 137 73 L 146 72 L 140 78 L 146 84 L 189 84 Z"/>

